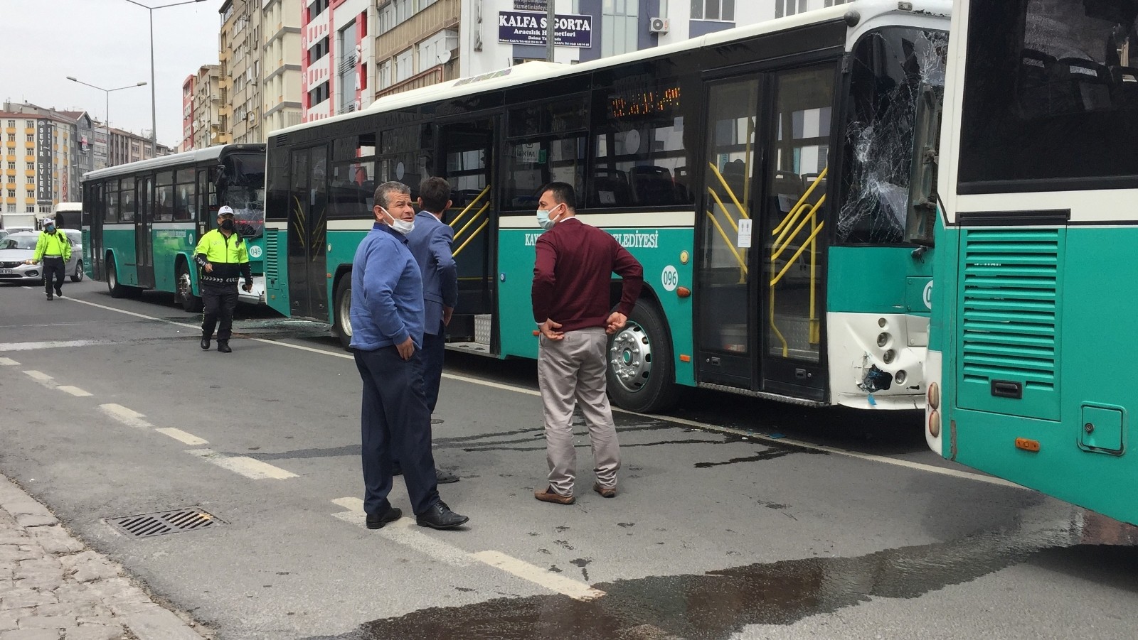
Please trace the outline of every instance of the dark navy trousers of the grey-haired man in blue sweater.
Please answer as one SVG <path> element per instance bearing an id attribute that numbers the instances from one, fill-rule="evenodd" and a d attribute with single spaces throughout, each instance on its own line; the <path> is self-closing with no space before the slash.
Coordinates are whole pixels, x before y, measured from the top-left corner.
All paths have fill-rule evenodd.
<path id="1" fill-rule="evenodd" d="M 435 457 L 430 452 L 430 412 L 423 397 L 422 355 L 410 360 L 395 347 L 355 351 L 363 380 L 360 431 L 363 444 L 363 509 L 384 514 L 391 508 L 391 460 L 403 466 L 411 508 L 421 514 L 438 501 Z"/>

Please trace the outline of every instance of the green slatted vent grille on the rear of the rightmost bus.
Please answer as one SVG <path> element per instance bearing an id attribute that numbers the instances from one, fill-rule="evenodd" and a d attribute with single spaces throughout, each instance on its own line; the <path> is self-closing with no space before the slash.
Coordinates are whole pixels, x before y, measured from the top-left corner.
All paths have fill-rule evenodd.
<path id="1" fill-rule="evenodd" d="M 964 232 L 958 325 L 962 406 L 1058 419 L 1056 336 L 1064 233 L 1058 228 Z"/>

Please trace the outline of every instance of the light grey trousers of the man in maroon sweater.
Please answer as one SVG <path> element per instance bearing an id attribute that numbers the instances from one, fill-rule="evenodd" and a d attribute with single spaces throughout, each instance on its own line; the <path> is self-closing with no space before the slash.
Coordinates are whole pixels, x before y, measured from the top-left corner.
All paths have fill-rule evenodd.
<path id="1" fill-rule="evenodd" d="M 593 472 L 604 488 L 617 485 L 620 444 L 605 396 L 605 350 L 608 335 L 601 327 L 564 333 L 563 340 L 541 336 L 537 351 L 537 383 L 545 408 L 545 459 L 550 464 L 550 487 L 561 496 L 572 496 L 577 475 L 577 450 L 572 444 L 574 402 L 588 424 L 593 447 Z"/>

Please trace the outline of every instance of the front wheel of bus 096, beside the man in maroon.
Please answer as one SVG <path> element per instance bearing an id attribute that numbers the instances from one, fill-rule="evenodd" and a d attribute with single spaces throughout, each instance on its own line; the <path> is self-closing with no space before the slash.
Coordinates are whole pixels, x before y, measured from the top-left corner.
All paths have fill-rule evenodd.
<path id="1" fill-rule="evenodd" d="M 628 324 L 609 336 L 609 397 L 630 412 L 659 412 L 676 401 L 671 343 L 663 314 L 636 302 Z"/>

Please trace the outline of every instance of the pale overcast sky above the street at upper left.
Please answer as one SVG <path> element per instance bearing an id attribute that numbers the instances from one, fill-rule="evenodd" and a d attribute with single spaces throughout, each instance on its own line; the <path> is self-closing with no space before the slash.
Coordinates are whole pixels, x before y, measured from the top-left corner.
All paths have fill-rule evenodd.
<path id="1" fill-rule="evenodd" d="M 148 7 L 182 0 L 138 0 Z M 154 75 L 158 142 L 182 141 L 182 82 L 201 65 L 217 64 L 223 0 L 154 11 Z M 245 0 L 234 0 L 242 2 Z M 259 0 L 253 0 L 259 3 Z M 101 120 L 106 94 L 67 80 L 115 89 L 110 125 L 150 130 L 149 14 L 126 0 L 0 0 L 0 102 L 32 102 L 86 110 Z"/>

